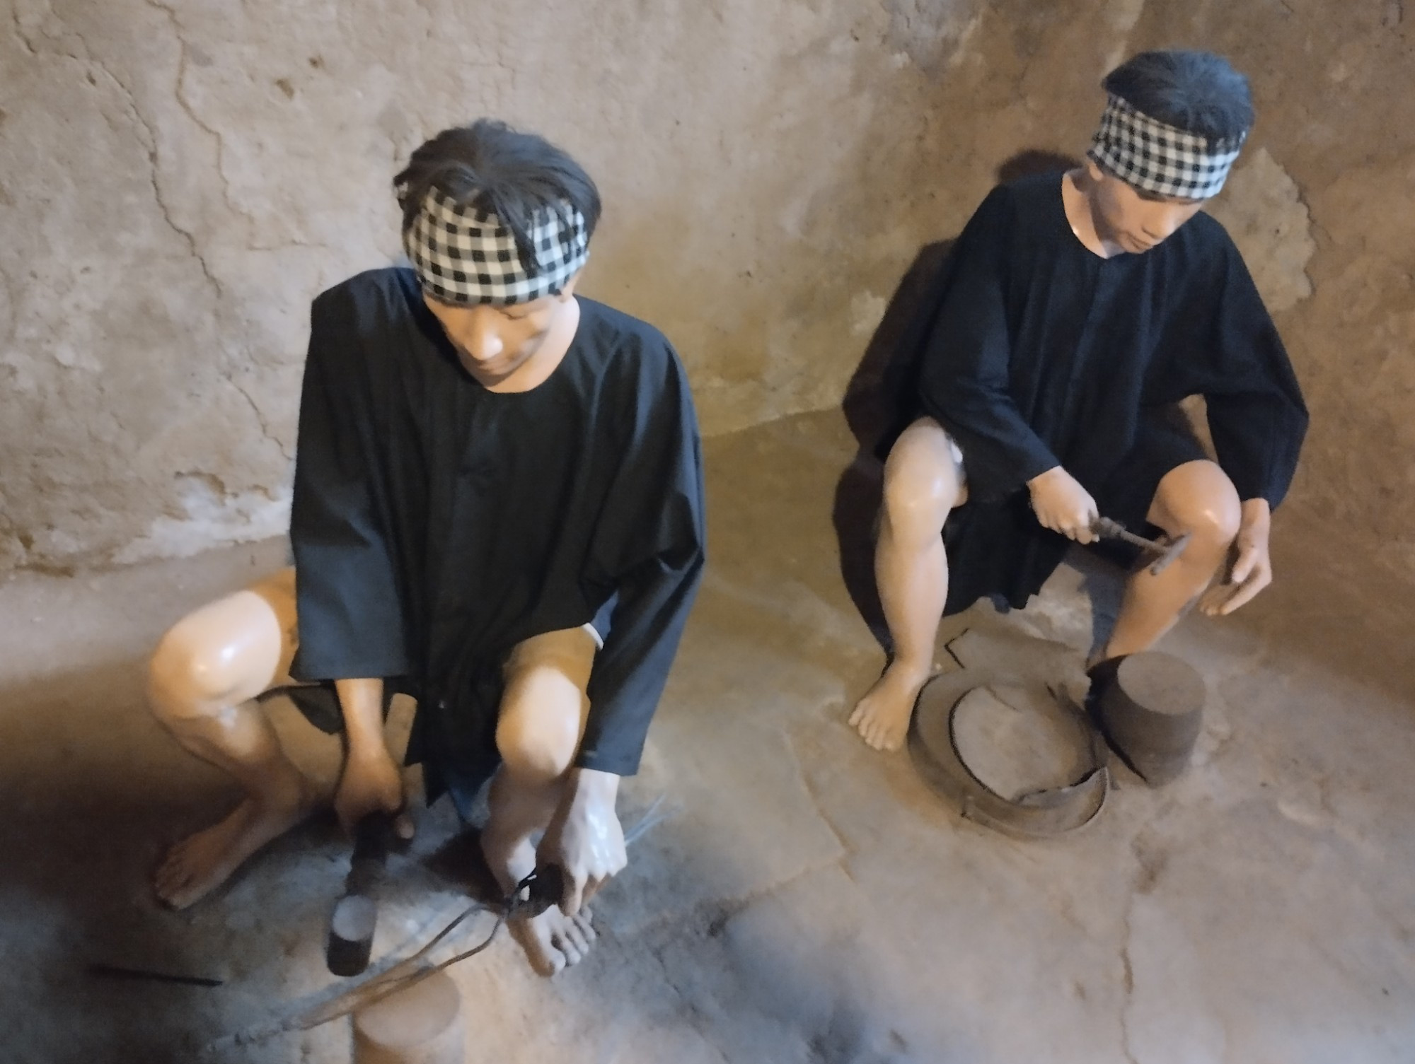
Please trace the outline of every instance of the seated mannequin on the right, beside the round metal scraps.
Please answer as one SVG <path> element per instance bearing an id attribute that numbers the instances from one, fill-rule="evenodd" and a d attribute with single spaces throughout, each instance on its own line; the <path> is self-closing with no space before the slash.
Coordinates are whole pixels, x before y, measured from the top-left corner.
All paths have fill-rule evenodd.
<path id="1" fill-rule="evenodd" d="M 1152 647 L 1215 574 L 1207 614 L 1272 580 L 1306 407 L 1232 241 L 1200 214 L 1252 125 L 1247 79 L 1146 52 L 1104 88 L 1085 163 L 989 194 L 907 352 L 917 406 L 889 450 L 874 556 L 893 654 L 850 715 L 874 748 L 904 739 L 940 617 L 983 596 L 1026 606 L 1101 515 L 1191 538 L 1129 577 L 1092 666 Z M 1190 395 L 1218 461 L 1176 417 Z"/>

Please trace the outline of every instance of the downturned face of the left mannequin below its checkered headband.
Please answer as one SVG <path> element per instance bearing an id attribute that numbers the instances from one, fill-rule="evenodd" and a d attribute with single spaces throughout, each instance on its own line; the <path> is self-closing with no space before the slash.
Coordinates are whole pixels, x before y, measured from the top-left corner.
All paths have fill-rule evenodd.
<path id="1" fill-rule="evenodd" d="M 546 335 L 572 310 L 577 280 L 579 274 L 570 277 L 558 294 L 529 303 L 463 307 L 439 303 L 426 293 L 423 303 L 457 349 L 463 368 L 477 383 L 491 388 L 535 358 Z"/>

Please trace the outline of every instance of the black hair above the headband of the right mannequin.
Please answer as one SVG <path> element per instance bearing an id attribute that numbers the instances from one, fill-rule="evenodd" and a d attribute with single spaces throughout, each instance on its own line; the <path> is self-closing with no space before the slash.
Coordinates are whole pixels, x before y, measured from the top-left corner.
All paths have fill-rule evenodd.
<path id="1" fill-rule="evenodd" d="M 1252 129 L 1248 79 L 1213 52 L 1140 52 L 1107 74 L 1101 88 L 1206 140 L 1235 140 Z"/>

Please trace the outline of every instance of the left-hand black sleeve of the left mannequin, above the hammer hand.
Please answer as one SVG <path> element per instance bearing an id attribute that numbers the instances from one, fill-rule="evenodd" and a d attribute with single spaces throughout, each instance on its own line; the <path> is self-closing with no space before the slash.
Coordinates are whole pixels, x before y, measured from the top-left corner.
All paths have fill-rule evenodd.
<path id="1" fill-rule="evenodd" d="M 409 672 L 357 311 L 335 289 L 310 316 L 290 509 L 300 638 L 290 673 L 304 681 Z"/>

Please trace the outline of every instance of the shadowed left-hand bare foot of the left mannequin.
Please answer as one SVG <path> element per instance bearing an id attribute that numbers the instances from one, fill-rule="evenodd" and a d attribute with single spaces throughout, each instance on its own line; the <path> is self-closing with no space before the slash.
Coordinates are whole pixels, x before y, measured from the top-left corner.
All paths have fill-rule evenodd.
<path id="1" fill-rule="evenodd" d="M 153 876 L 158 900 L 187 908 L 225 883 L 246 857 L 303 821 L 314 805 L 314 791 L 304 777 L 287 797 L 260 802 L 245 798 L 224 821 L 167 852 Z"/>

